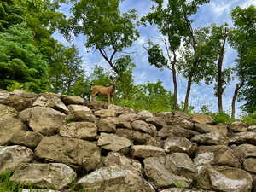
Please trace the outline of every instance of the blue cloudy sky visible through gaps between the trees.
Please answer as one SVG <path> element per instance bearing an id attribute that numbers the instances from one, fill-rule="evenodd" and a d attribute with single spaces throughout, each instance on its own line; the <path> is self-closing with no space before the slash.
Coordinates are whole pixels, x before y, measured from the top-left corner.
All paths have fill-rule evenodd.
<path id="1" fill-rule="evenodd" d="M 167 3 L 166 0 L 165 3 Z M 152 6 L 152 4 L 153 3 L 151 2 L 151 0 L 124 0 L 123 3 L 120 4 L 120 9 L 123 12 L 129 9 L 137 9 L 137 14 L 139 17 L 141 17 L 143 15 L 146 15 L 150 11 L 150 7 Z M 195 20 L 193 25 L 195 27 L 200 27 L 210 26 L 212 23 L 221 25 L 224 22 L 227 22 L 229 26 L 232 26 L 230 11 L 236 8 L 236 6 L 240 6 L 241 8 L 247 8 L 250 5 L 256 6 L 256 0 L 211 0 L 210 3 L 201 6 L 198 13 L 192 16 Z M 69 8 L 69 5 L 63 5 L 60 10 L 68 16 L 70 15 Z M 126 50 L 129 52 L 135 52 L 134 54 L 131 54 L 134 63 L 136 63 L 137 65 L 133 72 L 135 82 L 137 84 L 143 84 L 147 81 L 156 82 L 158 79 L 160 79 L 160 81 L 163 82 L 165 88 L 172 91 L 172 73 L 167 69 L 160 70 L 150 66 L 148 63 L 148 55 L 143 49 L 143 44 L 146 44 L 148 39 L 151 39 L 154 42 L 159 41 L 158 39 L 161 36 L 157 30 L 157 27 L 137 26 L 137 29 L 140 32 L 140 38 L 138 38 L 137 41 L 134 42 L 130 49 Z M 87 68 L 88 72 L 90 72 L 91 67 L 95 65 L 101 65 L 102 67 L 109 68 L 108 63 L 103 60 L 102 56 L 96 50 L 91 50 L 90 52 L 87 52 L 84 49 L 84 43 L 86 38 L 83 35 L 79 35 L 77 38 L 74 38 L 73 42 L 71 43 L 67 42 L 67 40 L 63 38 L 62 35 L 58 32 L 55 32 L 53 36 L 61 44 L 75 44 L 79 48 L 79 54 L 83 56 L 84 66 Z M 234 65 L 235 59 L 236 52 L 228 46 L 226 54 L 224 55 L 224 67 L 231 67 L 232 65 Z M 183 79 L 182 75 L 178 75 L 177 80 L 178 100 L 183 101 L 187 86 L 186 79 Z M 227 89 L 224 92 L 224 110 L 226 111 L 230 109 L 235 85 L 236 80 L 231 82 L 231 84 L 228 85 Z M 210 109 L 212 111 L 217 111 L 218 100 L 217 97 L 213 95 L 213 84 L 193 84 L 189 102 L 196 107 L 195 111 L 198 111 L 199 108 L 204 104 L 210 105 Z M 237 103 L 237 107 L 239 107 L 240 105 L 241 103 Z M 236 111 L 236 116 L 238 117 L 238 115 L 241 114 L 241 110 L 237 108 Z"/>

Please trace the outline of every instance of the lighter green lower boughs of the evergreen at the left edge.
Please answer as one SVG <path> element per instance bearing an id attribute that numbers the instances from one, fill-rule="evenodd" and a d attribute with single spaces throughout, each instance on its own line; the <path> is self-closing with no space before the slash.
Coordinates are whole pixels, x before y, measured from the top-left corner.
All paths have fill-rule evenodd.
<path id="1" fill-rule="evenodd" d="M 26 23 L 9 26 L 0 32 L 0 87 L 18 82 L 27 90 L 47 90 L 48 66 L 33 45 L 32 32 Z"/>

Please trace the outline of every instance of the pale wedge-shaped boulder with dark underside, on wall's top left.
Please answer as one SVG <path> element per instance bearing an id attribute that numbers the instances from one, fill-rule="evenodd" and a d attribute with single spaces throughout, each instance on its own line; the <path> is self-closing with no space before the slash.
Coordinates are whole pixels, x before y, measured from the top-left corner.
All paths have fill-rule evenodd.
<path id="1" fill-rule="evenodd" d="M 39 96 L 37 100 L 33 102 L 32 106 L 49 107 L 61 113 L 69 113 L 68 108 L 58 96 Z"/>

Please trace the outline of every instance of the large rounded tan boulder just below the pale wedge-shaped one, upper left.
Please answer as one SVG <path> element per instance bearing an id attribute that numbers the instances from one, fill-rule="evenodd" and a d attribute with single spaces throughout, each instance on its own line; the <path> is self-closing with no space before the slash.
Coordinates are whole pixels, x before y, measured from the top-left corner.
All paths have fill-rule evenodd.
<path id="1" fill-rule="evenodd" d="M 44 136 L 55 135 L 59 132 L 61 125 L 67 121 L 64 113 L 46 107 L 26 109 L 20 114 L 20 118 L 24 122 L 28 122 L 33 131 L 38 131 Z"/>

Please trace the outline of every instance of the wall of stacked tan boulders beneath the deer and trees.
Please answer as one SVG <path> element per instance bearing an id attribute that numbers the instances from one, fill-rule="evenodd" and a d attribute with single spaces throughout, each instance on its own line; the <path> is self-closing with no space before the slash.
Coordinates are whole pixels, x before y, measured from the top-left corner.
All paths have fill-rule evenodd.
<path id="1" fill-rule="evenodd" d="M 254 192 L 255 144 L 241 122 L 0 91 L 0 173 L 48 192 Z"/>

